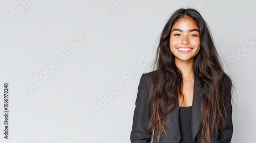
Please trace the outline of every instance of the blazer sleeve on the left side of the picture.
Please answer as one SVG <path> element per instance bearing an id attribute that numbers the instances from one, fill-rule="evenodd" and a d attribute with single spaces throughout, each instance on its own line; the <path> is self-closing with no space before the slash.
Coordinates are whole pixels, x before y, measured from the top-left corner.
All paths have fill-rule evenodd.
<path id="1" fill-rule="evenodd" d="M 149 92 L 145 82 L 145 74 L 143 73 L 140 78 L 137 98 L 135 101 L 133 126 L 130 136 L 132 143 L 146 143 L 151 140 L 151 135 L 147 132 L 147 125 L 149 123 L 148 95 Z"/>

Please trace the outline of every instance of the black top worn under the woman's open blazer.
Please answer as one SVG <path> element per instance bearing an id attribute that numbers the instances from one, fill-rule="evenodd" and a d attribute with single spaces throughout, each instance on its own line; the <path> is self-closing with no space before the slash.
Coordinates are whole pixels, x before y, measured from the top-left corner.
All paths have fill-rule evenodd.
<path id="1" fill-rule="evenodd" d="M 192 106 L 180 107 L 180 143 L 193 143 L 191 134 L 191 109 Z"/>

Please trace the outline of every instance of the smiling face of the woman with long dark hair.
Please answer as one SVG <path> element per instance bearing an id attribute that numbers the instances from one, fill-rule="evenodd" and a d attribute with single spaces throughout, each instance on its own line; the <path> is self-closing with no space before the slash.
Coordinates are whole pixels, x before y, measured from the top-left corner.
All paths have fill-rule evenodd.
<path id="1" fill-rule="evenodd" d="M 190 17 L 180 18 L 170 32 L 170 51 L 175 62 L 194 60 L 200 50 L 199 28 Z"/>

